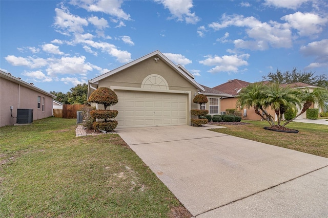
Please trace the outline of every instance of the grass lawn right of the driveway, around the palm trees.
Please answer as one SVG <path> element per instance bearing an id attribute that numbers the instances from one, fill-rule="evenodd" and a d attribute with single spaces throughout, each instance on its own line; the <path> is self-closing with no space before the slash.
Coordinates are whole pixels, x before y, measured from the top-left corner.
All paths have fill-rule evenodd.
<path id="1" fill-rule="evenodd" d="M 227 128 L 211 129 L 215 132 L 263 142 L 328 158 L 328 125 L 291 122 L 286 127 L 299 133 L 282 133 L 263 129 L 266 121 L 243 120 L 247 125 L 222 125 Z"/>

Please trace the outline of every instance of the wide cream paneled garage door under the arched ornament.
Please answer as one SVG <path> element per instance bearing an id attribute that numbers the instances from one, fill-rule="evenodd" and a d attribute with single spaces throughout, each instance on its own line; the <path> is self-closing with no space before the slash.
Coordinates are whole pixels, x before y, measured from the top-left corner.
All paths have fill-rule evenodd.
<path id="1" fill-rule="evenodd" d="M 119 128 L 187 125 L 187 95 L 155 92 L 115 91 L 115 118 Z"/>

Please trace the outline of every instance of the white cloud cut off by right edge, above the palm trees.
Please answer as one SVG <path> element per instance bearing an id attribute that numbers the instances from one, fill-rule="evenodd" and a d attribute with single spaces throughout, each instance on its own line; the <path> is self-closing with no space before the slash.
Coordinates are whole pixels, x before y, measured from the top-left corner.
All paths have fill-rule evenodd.
<path id="1" fill-rule="evenodd" d="M 315 61 L 307 67 L 308 69 L 328 66 L 328 39 L 313 41 L 307 46 L 302 46 L 300 52 L 304 56 L 314 56 Z"/>

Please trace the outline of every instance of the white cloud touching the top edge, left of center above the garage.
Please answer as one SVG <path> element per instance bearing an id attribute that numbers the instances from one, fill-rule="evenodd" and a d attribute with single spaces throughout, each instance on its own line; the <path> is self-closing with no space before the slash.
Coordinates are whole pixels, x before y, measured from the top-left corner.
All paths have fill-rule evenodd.
<path id="1" fill-rule="evenodd" d="M 103 12 L 119 19 L 130 20 L 130 14 L 121 9 L 122 0 L 73 0 L 70 4 L 92 12 Z"/>

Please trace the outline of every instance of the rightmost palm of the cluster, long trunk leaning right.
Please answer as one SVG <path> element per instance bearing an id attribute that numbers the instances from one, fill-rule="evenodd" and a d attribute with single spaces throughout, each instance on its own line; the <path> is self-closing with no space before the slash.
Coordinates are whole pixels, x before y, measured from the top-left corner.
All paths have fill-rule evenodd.
<path id="1" fill-rule="evenodd" d="M 301 114 L 303 114 L 306 110 L 308 110 L 313 102 L 316 102 L 319 104 L 321 108 L 324 107 L 324 103 L 328 101 L 328 91 L 322 88 L 316 88 L 311 92 L 309 89 L 306 89 L 301 92 L 301 95 L 299 96 L 301 99 L 301 102 L 303 102 L 303 108 L 302 111 L 293 119 L 285 122 L 282 126 L 287 125 L 288 123 L 295 120 L 297 117 L 299 117 Z"/>

